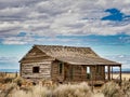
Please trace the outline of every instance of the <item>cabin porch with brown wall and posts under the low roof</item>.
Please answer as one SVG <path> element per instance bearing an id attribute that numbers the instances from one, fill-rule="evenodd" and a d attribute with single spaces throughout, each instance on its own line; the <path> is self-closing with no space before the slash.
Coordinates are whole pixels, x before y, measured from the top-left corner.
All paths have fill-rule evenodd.
<path id="1" fill-rule="evenodd" d="M 121 65 L 69 65 L 60 66 L 60 82 L 105 83 L 114 80 L 114 68 L 119 68 L 118 82 L 121 82 Z"/>

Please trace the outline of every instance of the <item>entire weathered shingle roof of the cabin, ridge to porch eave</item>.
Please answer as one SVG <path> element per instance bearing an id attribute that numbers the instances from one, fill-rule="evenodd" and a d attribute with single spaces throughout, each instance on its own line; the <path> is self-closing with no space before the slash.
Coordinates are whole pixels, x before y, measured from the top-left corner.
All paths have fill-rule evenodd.
<path id="1" fill-rule="evenodd" d="M 120 65 L 100 57 L 90 47 L 62 46 L 62 45 L 35 45 L 47 55 L 72 65 Z"/>

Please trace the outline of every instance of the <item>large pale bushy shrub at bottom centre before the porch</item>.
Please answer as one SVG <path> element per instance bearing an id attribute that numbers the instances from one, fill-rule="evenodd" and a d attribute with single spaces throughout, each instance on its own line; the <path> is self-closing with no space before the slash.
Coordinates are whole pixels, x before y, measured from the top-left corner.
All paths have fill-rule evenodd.
<path id="1" fill-rule="evenodd" d="M 53 92 L 53 97 L 92 97 L 87 83 L 60 85 Z"/>

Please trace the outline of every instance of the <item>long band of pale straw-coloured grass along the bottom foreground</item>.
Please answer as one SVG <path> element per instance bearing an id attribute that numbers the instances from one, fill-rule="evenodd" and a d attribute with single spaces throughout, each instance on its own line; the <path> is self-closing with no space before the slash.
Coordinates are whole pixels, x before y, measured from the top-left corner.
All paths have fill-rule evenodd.
<path id="1" fill-rule="evenodd" d="M 93 97 L 87 83 L 64 84 L 55 88 L 41 85 L 32 86 L 29 91 L 16 91 L 12 97 Z"/>

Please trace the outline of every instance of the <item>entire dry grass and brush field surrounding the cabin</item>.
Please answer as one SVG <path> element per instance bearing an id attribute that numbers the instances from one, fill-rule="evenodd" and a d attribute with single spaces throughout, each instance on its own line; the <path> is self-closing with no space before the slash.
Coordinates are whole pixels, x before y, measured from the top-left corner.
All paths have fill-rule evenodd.
<path id="1" fill-rule="evenodd" d="M 118 73 L 114 73 L 114 78 L 117 77 Z M 56 84 L 40 80 L 34 84 L 18 73 L 3 73 L 0 74 L 0 97 L 130 97 L 130 73 L 122 73 L 121 87 L 110 81 L 93 89 L 87 82 Z"/>

